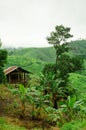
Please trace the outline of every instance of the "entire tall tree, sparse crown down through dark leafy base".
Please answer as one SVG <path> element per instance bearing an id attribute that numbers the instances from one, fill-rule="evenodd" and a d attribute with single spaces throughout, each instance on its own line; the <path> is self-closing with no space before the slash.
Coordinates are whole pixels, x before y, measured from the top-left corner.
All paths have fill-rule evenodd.
<path id="1" fill-rule="evenodd" d="M 52 32 L 50 37 L 47 37 L 48 43 L 52 44 L 56 50 L 56 62 L 53 65 L 48 64 L 44 67 L 43 73 L 45 78 L 50 77 L 46 85 L 48 88 L 46 89 L 45 87 L 44 90 L 52 93 L 53 107 L 56 109 L 58 108 L 57 102 L 59 102 L 60 98 L 63 96 L 67 98 L 70 94 L 66 89 L 69 73 L 80 69 L 83 63 L 77 57 L 70 57 L 67 53 L 69 50 L 67 39 L 71 37 L 73 35 L 70 34 L 70 28 L 63 25 L 56 26 L 55 32 Z"/>

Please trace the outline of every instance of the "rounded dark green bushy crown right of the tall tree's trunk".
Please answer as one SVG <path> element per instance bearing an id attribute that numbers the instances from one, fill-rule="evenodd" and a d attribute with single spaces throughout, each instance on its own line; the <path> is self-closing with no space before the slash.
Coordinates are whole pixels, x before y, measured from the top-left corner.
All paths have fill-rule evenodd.
<path id="1" fill-rule="evenodd" d="M 69 73 L 83 69 L 83 63 L 83 59 L 79 56 L 70 57 L 68 54 L 62 54 L 58 59 L 57 70 L 60 76 L 65 78 Z"/>

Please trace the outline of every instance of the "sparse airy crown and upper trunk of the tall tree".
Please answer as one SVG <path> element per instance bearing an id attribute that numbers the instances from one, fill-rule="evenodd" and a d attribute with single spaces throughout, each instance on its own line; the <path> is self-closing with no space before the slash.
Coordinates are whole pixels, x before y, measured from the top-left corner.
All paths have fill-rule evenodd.
<path id="1" fill-rule="evenodd" d="M 67 46 L 63 43 L 67 44 L 66 40 L 71 37 L 73 35 L 70 34 L 70 28 L 63 25 L 56 26 L 55 31 L 51 32 L 50 36 L 47 37 L 48 43 L 52 44 L 56 50 L 56 64 L 59 56 L 68 50 Z"/>

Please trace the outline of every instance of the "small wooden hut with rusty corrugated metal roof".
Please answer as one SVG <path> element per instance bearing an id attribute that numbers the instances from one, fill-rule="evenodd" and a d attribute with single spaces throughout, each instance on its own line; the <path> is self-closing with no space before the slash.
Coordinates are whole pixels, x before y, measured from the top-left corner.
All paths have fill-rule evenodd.
<path id="1" fill-rule="evenodd" d="M 28 74 L 29 71 L 19 67 L 19 66 L 11 66 L 4 70 L 4 73 L 7 78 L 7 82 L 10 84 L 17 83 L 27 83 L 28 82 Z"/>

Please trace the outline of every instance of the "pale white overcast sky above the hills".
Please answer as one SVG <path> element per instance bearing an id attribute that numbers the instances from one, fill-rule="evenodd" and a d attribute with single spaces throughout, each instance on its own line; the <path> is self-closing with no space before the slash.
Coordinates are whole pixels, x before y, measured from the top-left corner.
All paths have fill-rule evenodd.
<path id="1" fill-rule="evenodd" d="M 48 46 L 56 25 L 86 38 L 86 0 L 0 0 L 0 38 L 14 47 Z"/>

